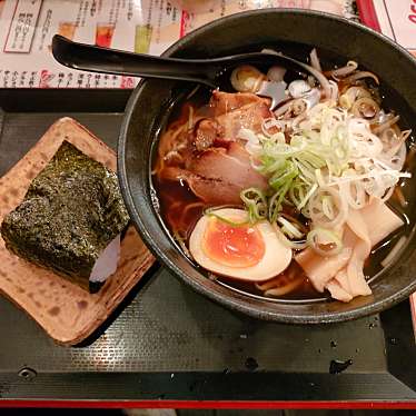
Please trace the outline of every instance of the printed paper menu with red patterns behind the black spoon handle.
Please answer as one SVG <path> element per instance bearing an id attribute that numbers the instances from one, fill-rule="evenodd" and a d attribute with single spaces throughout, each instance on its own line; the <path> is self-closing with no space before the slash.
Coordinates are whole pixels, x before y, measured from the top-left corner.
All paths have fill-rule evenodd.
<path id="1" fill-rule="evenodd" d="M 55 33 L 160 55 L 189 31 L 224 16 L 291 7 L 348 17 L 348 4 L 350 0 L 0 0 L 0 88 L 132 88 L 137 83 L 132 77 L 60 66 L 50 50 Z"/>

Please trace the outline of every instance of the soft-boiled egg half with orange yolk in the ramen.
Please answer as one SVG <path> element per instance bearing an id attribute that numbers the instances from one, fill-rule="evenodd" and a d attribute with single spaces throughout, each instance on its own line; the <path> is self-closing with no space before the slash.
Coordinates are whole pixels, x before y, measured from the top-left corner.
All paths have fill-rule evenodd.
<path id="1" fill-rule="evenodd" d="M 291 249 L 268 221 L 249 224 L 248 214 L 236 208 L 201 217 L 190 236 L 189 251 L 207 270 L 249 281 L 268 280 L 291 261 Z"/>

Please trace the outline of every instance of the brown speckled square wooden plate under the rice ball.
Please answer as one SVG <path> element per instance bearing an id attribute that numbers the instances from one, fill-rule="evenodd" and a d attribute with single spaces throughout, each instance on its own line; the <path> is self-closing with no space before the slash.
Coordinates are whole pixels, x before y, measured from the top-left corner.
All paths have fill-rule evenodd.
<path id="1" fill-rule="evenodd" d="M 62 118 L 0 178 L 0 224 L 21 202 L 31 180 L 63 140 L 116 170 L 116 155 L 107 145 L 76 120 Z M 153 261 L 130 226 L 121 241 L 117 271 L 97 294 L 89 294 L 53 271 L 12 255 L 0 238 L 0 291 L 28 313 L 57 343 L 76 345 L 106 320 Z"/>

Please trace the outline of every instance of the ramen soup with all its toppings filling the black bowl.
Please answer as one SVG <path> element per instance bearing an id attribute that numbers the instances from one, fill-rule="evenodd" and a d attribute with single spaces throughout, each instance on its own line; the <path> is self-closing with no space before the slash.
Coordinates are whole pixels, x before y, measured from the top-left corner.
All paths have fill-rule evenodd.
<path id="1" fill-rule="evenodd" d="M 207 278 L 285 301 L 372 294 L 406 242 L 412 131 L 358 63 L 323 69 L 313 50 L 305 73 L 241 66 L 231 92 L 201 88 L 170 115 L 152 182 Z"/>

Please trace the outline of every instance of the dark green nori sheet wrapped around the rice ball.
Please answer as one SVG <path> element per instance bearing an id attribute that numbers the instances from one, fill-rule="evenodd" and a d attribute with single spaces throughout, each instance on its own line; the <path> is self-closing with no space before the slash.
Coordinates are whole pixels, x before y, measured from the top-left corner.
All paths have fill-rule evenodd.
<path id="1" fill-rule="evenodd" d="M 100 252 L 128 221 L 116 174 L 63 141 L 1 235 L 13 254 L 89 289 Z"/>

